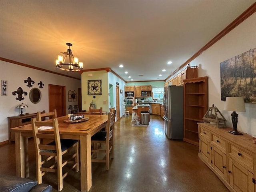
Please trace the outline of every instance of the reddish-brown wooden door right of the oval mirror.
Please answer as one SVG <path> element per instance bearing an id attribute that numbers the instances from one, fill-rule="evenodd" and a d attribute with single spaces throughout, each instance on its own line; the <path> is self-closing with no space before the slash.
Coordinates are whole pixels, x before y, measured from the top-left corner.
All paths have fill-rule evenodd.
<path id="1" fill-rule="evenodd" d="M 57 117 L 66 115 L 66 87 L 49 84 L 49 112 L 57 110 Z"/>

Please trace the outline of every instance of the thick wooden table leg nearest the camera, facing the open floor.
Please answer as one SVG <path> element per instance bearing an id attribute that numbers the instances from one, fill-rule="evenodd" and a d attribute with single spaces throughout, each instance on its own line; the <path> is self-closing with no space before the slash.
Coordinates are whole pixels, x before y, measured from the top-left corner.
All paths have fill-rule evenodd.
<path id="1" fill-rule="evenodd" d="M 80 136 L 80 171 L 81 191 L 87 192 L 92 187 L 92 159 L 91 159 L 91 137 Z"/>

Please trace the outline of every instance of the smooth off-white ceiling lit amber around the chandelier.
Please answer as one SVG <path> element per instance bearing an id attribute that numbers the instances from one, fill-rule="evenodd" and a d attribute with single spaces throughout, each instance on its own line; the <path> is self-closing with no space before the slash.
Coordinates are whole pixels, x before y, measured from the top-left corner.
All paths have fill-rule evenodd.
<path id="1" fill-rule="evenodd" d="M 70 42 L 86 70 L 109 67 L 127 82 L 128 75 L 164 80 L 254 2 L 0 0 L 0 54 L 80 78 L 55 67 Z"/>

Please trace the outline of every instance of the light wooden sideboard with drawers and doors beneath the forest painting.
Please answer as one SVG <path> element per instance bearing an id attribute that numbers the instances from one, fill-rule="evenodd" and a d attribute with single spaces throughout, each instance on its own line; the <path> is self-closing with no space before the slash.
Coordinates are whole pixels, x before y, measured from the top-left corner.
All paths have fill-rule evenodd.
<path id="1" fill-rule="evenodd" d="M 198 156 L 230 191 L 256 192 L 256 144 L 229 130 L 198 123 Z"/>

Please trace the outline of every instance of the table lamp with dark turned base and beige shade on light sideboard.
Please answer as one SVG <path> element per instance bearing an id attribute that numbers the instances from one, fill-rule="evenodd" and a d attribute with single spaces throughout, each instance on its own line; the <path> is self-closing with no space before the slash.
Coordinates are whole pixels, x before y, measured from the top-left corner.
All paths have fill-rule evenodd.
<path id="1" fill-rule="evenodd" d="M 233 113 L 231 114 L 233 130 L 229 132 L 235 135 L 242 135 L 242 133 L 237 131 L 238 114 L 236 113 L 236 111 L 245 112 L 244 98 L 243 97 L 226 97 L 224 110 L 233 111 Z"/>

